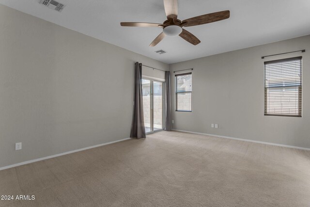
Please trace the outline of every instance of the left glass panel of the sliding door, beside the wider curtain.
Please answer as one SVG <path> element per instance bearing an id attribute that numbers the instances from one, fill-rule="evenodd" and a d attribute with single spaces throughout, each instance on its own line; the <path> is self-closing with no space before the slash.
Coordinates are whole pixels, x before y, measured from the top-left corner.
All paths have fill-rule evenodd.
<path id="1" fill-rule="evenodd" d="M 151 111 L 151 80 L 142 79 L 142 96 L 143 96 L 143 117 L 145 132 L 151 132 L 152 129 L 152 111 Z"/>

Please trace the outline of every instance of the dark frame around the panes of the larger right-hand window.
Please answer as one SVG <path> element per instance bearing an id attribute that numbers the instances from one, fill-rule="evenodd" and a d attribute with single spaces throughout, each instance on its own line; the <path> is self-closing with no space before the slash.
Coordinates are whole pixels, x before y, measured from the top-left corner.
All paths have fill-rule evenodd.
<path id="1" fill-rule="evenodd" d="M 286 88 L 298 88 L 297 92 L 297 100 L 298 100 L 298 113 L 296 114 L 281 114 L 281 113 L 270 113 L 268 111 L 268 105 L 267 105 L 267 90 L 268 88 L 272 87 L 266 87 L 266 64 L 273 64 L 273 63 L 281 63 L 281 62 L 288 62 L 288 61 L 294 61 L 294 60 L 300 60 L 300 86 L 279 86 L 279 89 L 286 89 Z M 284 58 L 279 60 L 273 60 L 273 61 L 266 61 L 264 62 L 264 116 L 287 116 L 287 117 L 302 117 L 302 56 L 298 57 L 292 57 L 292 58 Z"/>

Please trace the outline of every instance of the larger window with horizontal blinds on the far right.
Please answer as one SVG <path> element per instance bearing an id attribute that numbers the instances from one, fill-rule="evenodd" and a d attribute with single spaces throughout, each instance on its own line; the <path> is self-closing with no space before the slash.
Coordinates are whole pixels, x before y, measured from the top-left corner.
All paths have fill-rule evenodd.
<path id="1" fill-rule="evenodd" d="M 264 62 L 265 115 L 301 117 L 301 59 Z"/>

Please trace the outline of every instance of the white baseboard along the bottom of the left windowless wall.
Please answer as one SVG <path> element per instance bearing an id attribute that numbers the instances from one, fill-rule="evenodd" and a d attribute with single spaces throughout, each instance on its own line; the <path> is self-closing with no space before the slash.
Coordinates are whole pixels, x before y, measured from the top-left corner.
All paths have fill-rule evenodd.
<path id="1" fill-rule="evenodd" d="M 51 155 L 51 156 L 47 156 L 47 157 L 44 157 L 44 158 L 31 159 L 29 161 L 19 162 L 19 163 L 13 164 L 13 165 L 8 165 L 8 166 L 0 167 L 0 170 L 5 170 L 5 169 L 16 167 L 16 166 L 19 166 L 19 165 L 29 164 L 29 163 L 40 161 L 40 160 L 44 160 L 44 159 L 55 158 L 55 157 L 59 157 L 59 156 L 62 156 L 62 155 L 67 155 L 67 154 L 83 151 L 83 150 L 86 150 L 86 149 L 91 149 L 91 148 L 94 148 L 94 147 L 103 146 L 103 145 L 107 145 L 107 144 L 111 144 L 111 143 L 117 143 L 117 142 L 121 142 L 121 141 L 124 141 L 124 140 L 130 140 L 130 139 L 131 138 L 125 138 L 125 139 L 122 139 L 122 140 L 112 141 L 112 142 L 109 142 L 109 143 L 97 144 L 97 145 L 93 145 L 93 146 L 84 147 L 84 148 L 81 148 L 81 149 L 76 149 L 76 150 L 72 150 L 72 151 L 68 151 L 68 152 L 63 152 L 63 153 L 60 153 L 60 154 L 57 154 L 57 155 Z"/>

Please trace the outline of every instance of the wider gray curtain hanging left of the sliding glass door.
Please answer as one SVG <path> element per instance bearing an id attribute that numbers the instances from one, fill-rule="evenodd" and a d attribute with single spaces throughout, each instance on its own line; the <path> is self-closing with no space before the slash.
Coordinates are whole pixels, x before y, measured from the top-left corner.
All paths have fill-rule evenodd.
<path id="1" fill-rule="evenodd" d="M 144 119 L 143 119 L 143 99 L 142 99 L 142 64 L 138 62 L 135 76 L 135 96 L 134 96 L 134 114 L 131 125 L 131 138 L 146 138 Z"/>

